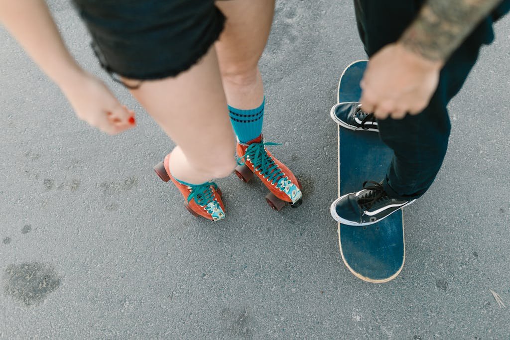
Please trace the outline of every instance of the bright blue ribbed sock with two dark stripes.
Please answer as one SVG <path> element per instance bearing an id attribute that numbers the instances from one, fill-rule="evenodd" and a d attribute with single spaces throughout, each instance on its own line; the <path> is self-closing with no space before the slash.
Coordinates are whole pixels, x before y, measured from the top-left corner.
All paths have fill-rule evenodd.
<path id="1" fill-rule="evenodd" d="M 262 134 L 262 122 L 264 120 L 264 104 L 266 98 L 257 109 L 239 110 L 228 106 L 230 112 L 230 121 L 234 132 L 241 143 L 247 143 Z"/>

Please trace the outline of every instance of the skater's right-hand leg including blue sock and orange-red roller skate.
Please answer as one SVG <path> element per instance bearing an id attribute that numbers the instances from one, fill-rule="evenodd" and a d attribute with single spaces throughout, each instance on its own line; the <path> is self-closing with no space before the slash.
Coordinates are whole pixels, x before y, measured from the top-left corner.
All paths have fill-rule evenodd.
<path id="1" fill-rule="evenodd" d="M 260 133 L 262 110 L 258 109 L 264 98 L 264 87 L 258 63 L 269 37 L 274 14 L 274 0 L 232 0 L 217 2 L 216 5 L 225 14 L 225 30 L 216 42 L 221 78 L 227 102 L 234 109 L 248 110 L 250 120 L 238 119 L 243 113 L 231 110 L 233 126 L 244 141 L 238 144 L 238 155 L 246 155 L 244 166 L 238 170 L 240 177 L 253 173 L 269 189 L 266 196 L 270 205 L 279 210 L 285 203 L 293 206 L 301 204 L 302 193 L 299 181 L 283 163 L 257 142 L 254 135 Z M 254 111 L 254 112 L 253 112 Z M 259 116 L 258 114 L 261 113 Z M 235 117 L 237 116 L 237 117 Z M 246 116 L 245 116 L 246 117 Z M 257 123 L 254 123 L 258 121 Z M 245 124 L 245 126 L 242 126 Z M 251 126 L 250 126 L 251 125 Z M 251 130 L 250 130 L 251 128 Z M 248 138 L 249 136 L 249 138 Z M 259 140 L 260 141 L 260 140 Z M 249 146 L 248 144 L 249 143 Z M 258 158 L 257 154 L 260 155 Z M 262 159 L 274 162 L 277 170 L 264 165 Z M 257 171 L 254 171 L 257 169 Z M 241 171 L 241 172 L 239 172 Z M 272 175 L 273 180 L 270 180 Z"/>

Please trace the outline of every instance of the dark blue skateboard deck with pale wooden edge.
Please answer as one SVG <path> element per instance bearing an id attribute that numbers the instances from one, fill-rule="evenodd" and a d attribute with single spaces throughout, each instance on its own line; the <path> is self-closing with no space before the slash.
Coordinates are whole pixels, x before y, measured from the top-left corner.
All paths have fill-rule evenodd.
<path id="1" fill-rule="evenodd" d="M 338 102 L 360 100 L 360 82 L 366 67 L 366 60 L 347 66 L 338 84 Z M 378 182 L 384 178 L 392 155 L 377 133 L 338 125 L 339 197 L 360 191 L 366 180 Z M 338 223 L 338 239 L 345 265 L 364 281 L 387 282 L 402 270 L 405 241 L 401 210 L 368 226 Z"/>

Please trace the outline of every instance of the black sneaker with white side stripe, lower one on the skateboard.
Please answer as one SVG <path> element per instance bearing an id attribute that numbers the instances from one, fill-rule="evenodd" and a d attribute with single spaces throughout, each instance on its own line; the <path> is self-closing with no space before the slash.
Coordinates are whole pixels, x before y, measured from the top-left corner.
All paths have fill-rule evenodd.
<path id="1" fill-rule="evenodd" d="M 362 226 L 377 223 L 414 201 L 416 199 L 390 198 L 380 183 L 366 181 L 363 190 L 343 195 L 333 202 L 330 213 L 340 223 Z"/>

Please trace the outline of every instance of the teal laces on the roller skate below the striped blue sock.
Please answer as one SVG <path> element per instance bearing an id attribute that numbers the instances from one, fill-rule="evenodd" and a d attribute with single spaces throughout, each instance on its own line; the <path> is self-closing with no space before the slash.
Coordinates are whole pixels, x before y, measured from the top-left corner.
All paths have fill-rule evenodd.
<path id="1" fill-rule="evenodd" d="M 264 178 L 271 181 L 271 184 L 277 184 L 278 180 L 284 177 L 282 169 L 278 168 L 273 159 L 269 157 L 264 146 L 266 145 L 282 145 L 278 143 L 253 143 L 246 148 L 244 155 L 237 160 L 238 165 L 243 165 L 247 159 L 253 164 L 256 171 L 262 173 Z"/>

